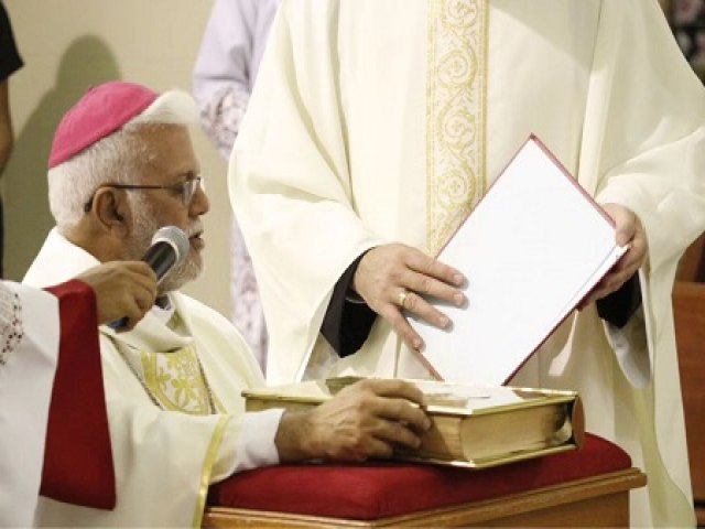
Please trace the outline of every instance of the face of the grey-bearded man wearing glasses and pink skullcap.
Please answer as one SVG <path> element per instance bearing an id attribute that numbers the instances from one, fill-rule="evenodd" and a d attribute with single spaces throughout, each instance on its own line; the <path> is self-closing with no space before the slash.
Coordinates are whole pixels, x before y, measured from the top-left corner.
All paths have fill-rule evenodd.
<path id="1" fill-rule="evenodd" d="M 174 185 L 199 175 L 199 165 L 185 127 L 149 126 L 139 132 L 150 155 L 135 181 L 143 185 Z M 196 190 L 191 202 L 184 203 L 173 190 L 144 190 L 129 195 L 131 203 L 130 236 L 126 244 L 126 259 L 140 259 L 149 248 L 152 236 L 163 226 L 177 226 L 189 237 L 191 251 L 184 262 L 162 281 L 160 291 L 177 290 L 193 281 L 202 271 L 200 251 L 203 224 L 200 216 L 208 212 L 206 194 Z"/>

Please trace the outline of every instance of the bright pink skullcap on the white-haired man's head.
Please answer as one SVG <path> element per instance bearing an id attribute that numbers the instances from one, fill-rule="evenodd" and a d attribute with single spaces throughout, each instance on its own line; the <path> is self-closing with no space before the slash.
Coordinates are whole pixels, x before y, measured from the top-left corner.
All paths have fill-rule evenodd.
<path id="1" fill-rule="evenodd" d="M 48 168 L 70 160 L 110 136 L 159 98 L 142 85 L 115 80 L 90 88 L 62 118 L 54 133 Z"/>

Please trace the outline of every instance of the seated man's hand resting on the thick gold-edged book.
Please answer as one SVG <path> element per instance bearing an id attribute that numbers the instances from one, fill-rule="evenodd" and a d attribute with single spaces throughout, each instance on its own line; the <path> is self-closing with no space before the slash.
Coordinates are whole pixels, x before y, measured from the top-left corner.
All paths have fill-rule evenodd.
<path id="1" fill-rule="evenodd" d="M 286 412 L 276 432 L 280 461 L 365 461 L 416 449 L 431 428 L 423 393 L 403 380 L 367 379 L 304 412 Z"/>

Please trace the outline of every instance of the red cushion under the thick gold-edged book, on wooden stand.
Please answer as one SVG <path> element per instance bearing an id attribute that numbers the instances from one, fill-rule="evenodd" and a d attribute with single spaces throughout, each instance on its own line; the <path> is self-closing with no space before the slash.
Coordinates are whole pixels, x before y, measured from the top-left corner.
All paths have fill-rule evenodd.
<path id="1" fill-rule="evenodd" d="M 208 505 L 375 520 L 506 496 L 630 466 L 631 460 L 623 450 L 587 434 L 579 451 L 482 471 L 395 462 L 259 468 L 213 485 Z"/>

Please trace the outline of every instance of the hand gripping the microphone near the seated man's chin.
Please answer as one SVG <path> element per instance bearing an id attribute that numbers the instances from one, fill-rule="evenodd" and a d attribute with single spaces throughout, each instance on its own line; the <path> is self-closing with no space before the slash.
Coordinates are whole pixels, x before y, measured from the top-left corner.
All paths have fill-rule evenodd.
<path id="1" fill-rule="evenodd" d="M 98 323 L 110 323 L 122 317 L 129 331 L 154 305 L 156 276 L 142 261 L 113 261 L 99 264 L 76 279 L 88 284 L 96 293 Z"/>

